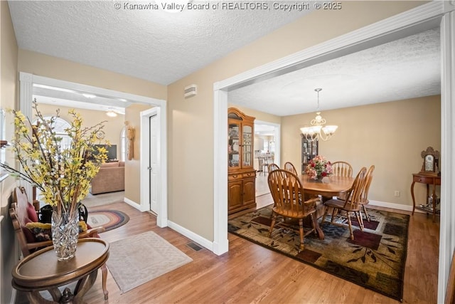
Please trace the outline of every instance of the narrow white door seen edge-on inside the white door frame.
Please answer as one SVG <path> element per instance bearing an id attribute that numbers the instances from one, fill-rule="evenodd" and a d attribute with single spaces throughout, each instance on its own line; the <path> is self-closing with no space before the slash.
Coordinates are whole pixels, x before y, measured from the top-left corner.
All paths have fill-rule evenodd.
<path id="1" fill-rule="evenodd" d="M 149 117 L 149 201 L 150 210 L 158 214 L 158 116 Z"/>

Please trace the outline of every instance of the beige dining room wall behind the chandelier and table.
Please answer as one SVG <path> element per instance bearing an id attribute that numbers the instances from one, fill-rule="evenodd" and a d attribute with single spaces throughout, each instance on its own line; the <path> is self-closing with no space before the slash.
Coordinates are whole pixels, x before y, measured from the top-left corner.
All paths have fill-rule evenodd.
<path id="1" fill-rule="evenodd" d="M 319 141 L 319 154 L 332 162 L 344 160 L 361 167 L 375 165 L 370 200 L 412 206 L 412 173 L 422 167 L 422 150 L 432 146 L 441 151 L 441 98 L 429 96 L 378 103 L 355 108 L 323 111 L 328 124 L 338 125 L 333 137 Z M 291 115 L 282 119 L 284 162 L 301 163 L 300 127 L 315 113 Z M 400 197 L 394 196 L 395 190 Z M 426 188 L 416 184 L 416 201 L 423 203 Z"/>

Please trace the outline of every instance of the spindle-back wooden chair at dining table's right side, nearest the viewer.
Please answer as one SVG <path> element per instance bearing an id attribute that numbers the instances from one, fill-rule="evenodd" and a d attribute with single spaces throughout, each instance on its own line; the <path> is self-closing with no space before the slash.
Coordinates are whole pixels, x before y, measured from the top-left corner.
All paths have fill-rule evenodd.
<path id="1" fill-rule="evenodd" d="M 347 220 L 351 240 L 354 239 L 353 226 L 350 220 L 351 216 L 354 215 L 356 217 L 360 230 L 363 231 L 363 219 L 360 215 L 360 197 L 365 184 L 366 172 L 367 168 L 363 167 L 360 169 L 360 172 L 358 172 L 354 179 L 353 186 L 346 192 L 348 199 L 330 199 L 324 203 L 326 205 L 326 211 L 324 212 L 321 226 L 326 221 L 328 210 L 332 209 L 330 224 L 346 227 L 344 223 Z M 336 219 L 342 219 L 342 221 L 338 222 Z"/>

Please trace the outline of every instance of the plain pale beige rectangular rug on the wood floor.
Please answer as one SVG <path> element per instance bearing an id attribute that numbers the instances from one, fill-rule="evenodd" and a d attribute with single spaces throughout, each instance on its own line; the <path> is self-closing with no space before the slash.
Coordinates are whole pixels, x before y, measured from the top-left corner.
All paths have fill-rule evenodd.
<path id="1" fill-rule="evenodd" d="M 193 261 L 152 231 L 109 243 L 109 268 L 122 293 Z"/>

